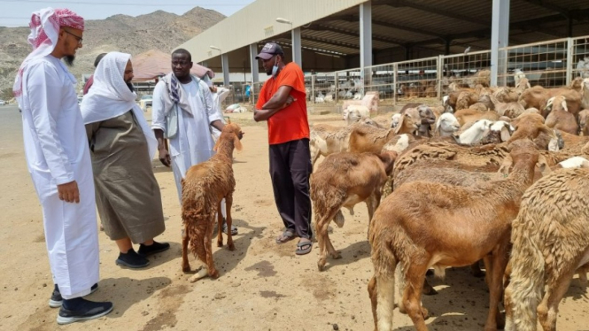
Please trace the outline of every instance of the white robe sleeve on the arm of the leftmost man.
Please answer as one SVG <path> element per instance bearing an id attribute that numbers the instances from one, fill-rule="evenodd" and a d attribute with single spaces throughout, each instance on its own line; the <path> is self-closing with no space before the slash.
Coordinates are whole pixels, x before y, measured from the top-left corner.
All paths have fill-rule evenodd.
<path id="1" fill-rule="evenodd" d="M 58 185 L 74 181 L 74 170 L 58 136 L 57 119 L 62 111 L 64 83 L 55 68 L 40 62 L 27 71 L 27 94 L 33 126 L 51 177 Z"/>

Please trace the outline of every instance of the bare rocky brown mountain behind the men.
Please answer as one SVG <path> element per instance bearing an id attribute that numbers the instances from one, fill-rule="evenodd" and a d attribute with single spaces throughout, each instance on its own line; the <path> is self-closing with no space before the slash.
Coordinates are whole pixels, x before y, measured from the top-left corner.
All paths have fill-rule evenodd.
<path id="1" fill-rule="evenodd" d="M 94 59 L 103 52 L 169 52 L 224 18 L 220 12 L 195 7 L 183 15 L 157 11 L 137 17 L 114 15 L 87 20 L 83 47 L 77 51 L 70 70 L 80 81 L 82 73 L 92 73 Z M 0 27 L 0 98 L 12 98 L 14 76 L 31 51 L 27 43 L 29 32 L 28 27 Z"/>

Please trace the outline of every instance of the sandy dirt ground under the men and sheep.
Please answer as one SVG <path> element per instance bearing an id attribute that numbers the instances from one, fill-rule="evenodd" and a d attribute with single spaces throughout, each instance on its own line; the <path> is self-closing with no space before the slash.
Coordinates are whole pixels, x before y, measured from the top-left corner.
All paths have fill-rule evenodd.
<path id="1" fill-rule="evenodd" d="M 14 106 L 0 107 L 0 330 L 371 330 L 367 294 L 372 274 L 364 204 L 355 215 L 344 211 L 343 228 L 330 227 L 342 257 L 328 258 L 317 271 L 317 244 L 295 256 L 296 241 L 282 245 L 275 236 L 282 221 L 275 209 L 268 174 L 267 128 L 252 113 L 229 114 L 243 127 L 244 150 L 236 153 L 233 216 L 239 235 L 236 250 L 213 247 L 221 276 L 190 283 L 181 271 L 180 206 L 171 171 L 156 161 L 154 171 L 162 192 L 167 230 L 157 240 L 172 248 L 151 259 L 143 270 L 114 264 L 118 250 L 104 232 L 100 238 L 100 275 L 91 300 L 111 300 L 114 311 L 101 318 L 60 327 L 58 310 L 48 306 L 52 289 L 45 250 L 41 208 L 27 173 L 21 121 Z M 146 113 L 147 119 L 151 114 Z M 337 114 L 312 115 L 312 122 L 343 125 Z M 198 266 L 190 258 L 192 267 Z M 437 296 L 423 296 L 430 310 L 430 330 L 482 330 L 488 310 L 483 279 L 468 268 L 453 268 L 445 280 L 428 277 Z M 411 330 L 407 315 L 394 313 L 395 330 Z M 589 329 L 587 290 L 576 279 L 562 301 L 559 330 Z"/>

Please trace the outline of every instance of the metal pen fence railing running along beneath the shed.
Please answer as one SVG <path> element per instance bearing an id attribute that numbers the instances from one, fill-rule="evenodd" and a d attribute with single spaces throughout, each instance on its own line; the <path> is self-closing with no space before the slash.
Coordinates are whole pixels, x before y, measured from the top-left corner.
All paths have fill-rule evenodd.
<path id="1" fill-rule="evenodd" d="M 515 86 L 522 71 L 531 86 L 569 85 L 576 77 L 589 77 L 589 35 L 534 42 L 500 49 L 498 85 Z M 490 84 L 491 50 L 440 55 L 331 73 L 306 74 L 306 98 L 311 103 L 339 103 L 378 91 L 379 99 L 396 103 L 416 97 L 441 98 L 451 84 L 475 88 Z M 263 82 L 252 83 L 258 100 Z"/>

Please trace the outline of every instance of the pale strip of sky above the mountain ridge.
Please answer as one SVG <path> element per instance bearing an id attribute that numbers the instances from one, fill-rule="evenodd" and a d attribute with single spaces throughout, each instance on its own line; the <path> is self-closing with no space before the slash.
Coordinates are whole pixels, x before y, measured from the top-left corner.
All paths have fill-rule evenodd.
<path id="1" fill-rule="evenodd" d="M 31 13 L 45 7 L 69 8 L 84 19 L 106 19 L 116 14 L 138 16 L 155 11 L 182 15 L 203 7 L 231 16 L 254 0 L 0 0 L 0 27 L 28 27 Z"/>

